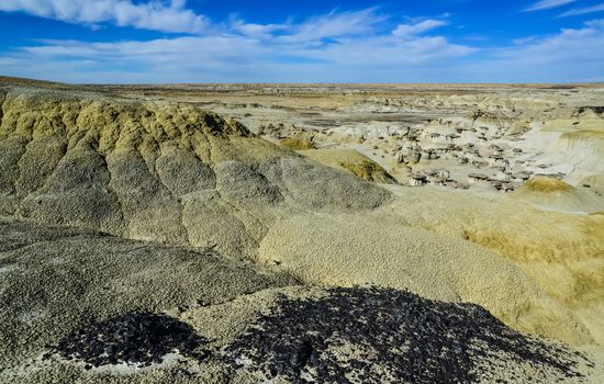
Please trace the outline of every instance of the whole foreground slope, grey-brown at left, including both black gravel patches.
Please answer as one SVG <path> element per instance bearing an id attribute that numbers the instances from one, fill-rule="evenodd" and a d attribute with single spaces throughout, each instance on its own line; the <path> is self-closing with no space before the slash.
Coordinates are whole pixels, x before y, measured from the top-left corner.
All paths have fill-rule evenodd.
<path id="1" fill-rule="evenodd" d="M 2 383 L 584 383 L 599 369 L 409 291 L 298 285 L 215 252 L 10 219 L 0 245 Z"/>

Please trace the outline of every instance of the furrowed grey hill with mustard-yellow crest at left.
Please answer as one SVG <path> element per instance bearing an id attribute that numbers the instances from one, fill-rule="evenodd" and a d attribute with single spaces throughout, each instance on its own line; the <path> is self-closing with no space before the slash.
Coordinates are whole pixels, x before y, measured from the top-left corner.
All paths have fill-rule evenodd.
<path id="1" fill-rule="evenodd" d="M 0 214 L 250 256 L 275 217 L 389 193 L 182 104 L 0 89 Z"/>

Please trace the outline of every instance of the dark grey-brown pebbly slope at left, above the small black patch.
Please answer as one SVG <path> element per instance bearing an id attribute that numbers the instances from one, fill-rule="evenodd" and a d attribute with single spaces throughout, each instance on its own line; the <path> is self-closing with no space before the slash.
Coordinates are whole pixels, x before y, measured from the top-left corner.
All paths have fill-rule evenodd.
<path id="1" fill-rule="evenodd" d="M 5 219 L 0 247 L 0 366 L 35 358 L 91 319 L 295 283 L 215 252 Z"/>

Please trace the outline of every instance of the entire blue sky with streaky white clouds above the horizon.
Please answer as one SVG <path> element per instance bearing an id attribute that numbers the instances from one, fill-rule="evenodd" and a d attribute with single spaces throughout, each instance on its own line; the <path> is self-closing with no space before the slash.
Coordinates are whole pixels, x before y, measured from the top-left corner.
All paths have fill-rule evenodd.
<path id="1" fill-rule="evenodd" d="M 604 81 L 602 0 L 0 0 L 0 75 L 67 82 Z"/>

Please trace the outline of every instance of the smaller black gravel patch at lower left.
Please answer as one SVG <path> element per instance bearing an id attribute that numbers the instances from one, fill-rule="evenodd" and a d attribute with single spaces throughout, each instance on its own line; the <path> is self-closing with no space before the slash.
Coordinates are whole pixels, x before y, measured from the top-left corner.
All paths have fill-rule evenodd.
<path id="1" fill-rule="evenodd" d="M 130 313 L 68 335 L 52 352 L 83 361 L 87 369 L 123 362 L 149 366 L 175 351 L 203 360 L 205 353 L 198 352 L 203 343 L 205 340 L 186 323 L 166 315 Z"/>

